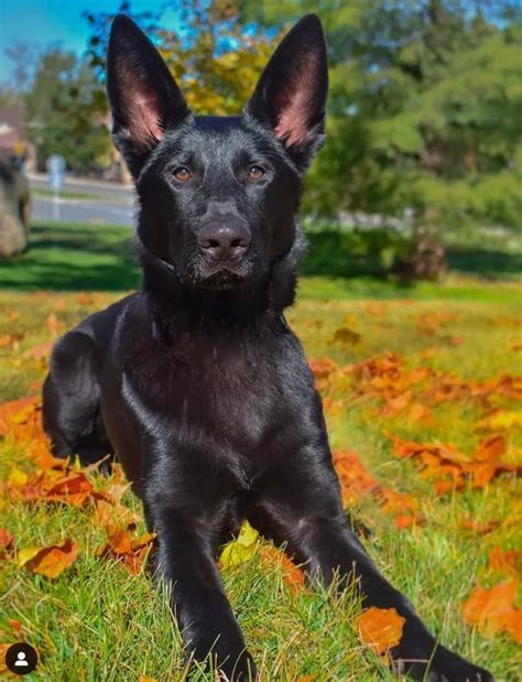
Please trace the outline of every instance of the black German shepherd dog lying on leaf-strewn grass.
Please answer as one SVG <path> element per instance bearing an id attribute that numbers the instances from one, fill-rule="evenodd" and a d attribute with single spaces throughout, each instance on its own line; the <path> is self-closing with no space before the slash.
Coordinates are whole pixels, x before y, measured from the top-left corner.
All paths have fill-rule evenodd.
<path id="1" fill-rule="evenodd" d="M 416 680 L 491 681 L 427 631 L 350 531 L 320 399 L 283 311 L 305 240 L 295 221 L 324 139 L 326 46 L 317 17 L 282 41 L 241 116 L 194 117 L 161 56 L 112 24 L 113 139 L 140 201 L 139 293 L 55 346 L 44 425 L 58 456 L 117 453 L 157 531 L 156 571 L 196 660 L 255 676 L 215 563 L 249 519 L 308 581 L 357 581 L 365 607 L 405 618 L 391 651 Z"/>

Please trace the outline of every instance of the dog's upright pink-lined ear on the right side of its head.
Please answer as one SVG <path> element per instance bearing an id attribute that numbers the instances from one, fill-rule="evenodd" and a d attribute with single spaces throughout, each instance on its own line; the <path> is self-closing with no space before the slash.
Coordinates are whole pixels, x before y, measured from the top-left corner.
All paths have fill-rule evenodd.
<path id="1" fill-rule="evenodd" d="M 328 63 L 319 18 L 307 14 L 285 35 L 246 107 L 269 126 L 301 169 L 324 140 Z"/>

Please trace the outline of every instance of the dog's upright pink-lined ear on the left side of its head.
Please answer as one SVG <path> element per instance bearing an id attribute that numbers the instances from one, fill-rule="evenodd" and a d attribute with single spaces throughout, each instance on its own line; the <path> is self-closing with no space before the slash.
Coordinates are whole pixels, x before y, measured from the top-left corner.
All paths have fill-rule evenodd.
<path id="1" fill-rule="evenodd" d="M 157 50 L 124 14 L 116 17 L 110 31 L 107 93 L 112 139 L 137 178 L 165 129 L 189 110 Z"/>

